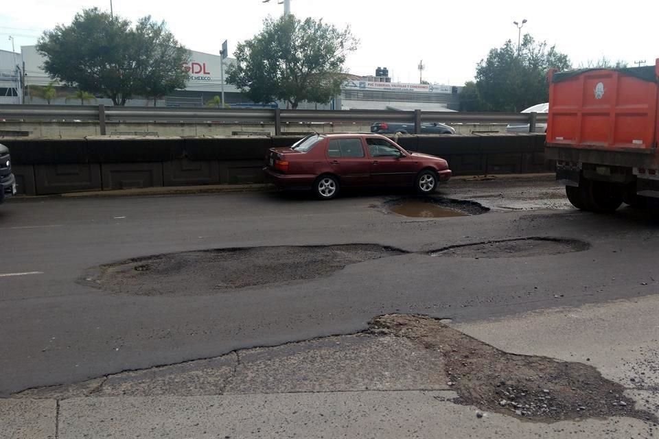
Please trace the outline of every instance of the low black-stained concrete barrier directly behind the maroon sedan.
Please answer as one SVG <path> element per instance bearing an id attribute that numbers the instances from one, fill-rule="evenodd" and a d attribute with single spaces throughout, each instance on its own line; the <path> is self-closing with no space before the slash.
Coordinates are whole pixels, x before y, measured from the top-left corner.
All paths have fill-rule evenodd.
<path id="1" fill-rule="evenodd" d="M 10 148 L 19 193 L 46 195 L 136 187 L 263 182 L 270 147 L 282 137 L 89 137 L 3 139 Z M 544 135 L 404 136 L 410 151 L 446 158 L 455 175 L 535 173 L 551 170 Z"/>

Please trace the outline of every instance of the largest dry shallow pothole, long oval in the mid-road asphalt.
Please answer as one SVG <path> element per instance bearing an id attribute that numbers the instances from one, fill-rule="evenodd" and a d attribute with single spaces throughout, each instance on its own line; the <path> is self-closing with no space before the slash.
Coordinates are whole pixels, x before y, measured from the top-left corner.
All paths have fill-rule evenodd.
<path id="1" fill-rule="evenodd" d="M 371 244 L 180 252 L 101 265 L 89 270 L 82 283 L 139 296 L 213 294 L 319 278 L 346 265 L 404 253 Z"/>

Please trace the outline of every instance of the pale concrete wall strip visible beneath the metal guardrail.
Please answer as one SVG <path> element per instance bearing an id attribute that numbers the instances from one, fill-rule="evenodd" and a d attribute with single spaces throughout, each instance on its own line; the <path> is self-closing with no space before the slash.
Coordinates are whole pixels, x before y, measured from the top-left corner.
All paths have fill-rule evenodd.
<path id="1" fill-rule="evenodd" d="M 456 123 L 452 125 L 457 134 L 473 132 L 505 132 L 501 123 Z M 285 123 L 282 133 L 305 132 L 369 132 L 368 123 Z M 275 134 L 274 123 L 115 123 L 108 122 L 107 134 L 113 136 L 149 137 L 205 137 L 232 135 Z M 100 125 L 94 121 L 0 121 L 0 138 L 27 137 L 28 139 L 84 139 L 100 136 Z"/>

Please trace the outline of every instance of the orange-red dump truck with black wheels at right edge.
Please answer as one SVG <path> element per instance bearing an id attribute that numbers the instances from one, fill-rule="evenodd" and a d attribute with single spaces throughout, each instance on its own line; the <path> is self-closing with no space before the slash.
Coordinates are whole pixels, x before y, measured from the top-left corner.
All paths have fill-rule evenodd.
<path id="1" fill-rule="evenodd" d="M 659 59 L 654 66 L 550 71 L 546 157 L 570 202 L 613 212 L 659 198 Z"/>

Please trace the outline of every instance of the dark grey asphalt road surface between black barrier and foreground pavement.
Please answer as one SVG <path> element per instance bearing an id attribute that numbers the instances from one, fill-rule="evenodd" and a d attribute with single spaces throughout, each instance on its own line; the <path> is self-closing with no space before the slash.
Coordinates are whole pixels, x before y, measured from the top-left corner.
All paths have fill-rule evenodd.
<path id="1" fill-rule="evenodd" d="M 534 184 L 533 191 L 523 182 L 496 183 L 496 193 L 492 182 L 442 189 L 451 199 L 486 206 L 496 200 L 492 211 L 430 220 L 372 208 L 389 195 L 316 202 L 234 193 L 3 205 L 0 228 L 12 257 L 3 257 L 2 272 L 43 274 L 0 278 L 0 395 L 358 333 L 373 316 L 389 313 L 475 322 L 656 293 L 656 219 L 631 209 L 581 213 L 559 201 L 553 210 L 505 211 L 509 192 L 516 206 L 523 202 L 520 193 L 548 194 L 542 200 L 551 203 L 550 195 L 559 195 L 551 182 Z M 509 244 L 500 254 L 476 247 L 459 257 L 430 256 L 452 246 L 529 237 L 577 247 L 544 241 L 551 251 L 526 246 L 524 257 L 507 257 Z M 299 246 L 352 244 L 402 254 L 355 259 L 299 252 Z M 261 259 L 229 257 L 231 276 L 217 283 L 207 283 L 216 278 L 207 270 L 192 270 L 145 294 L 85 284 L 88 270 L 108 264 L 133 261 L 131 274 L 139 280 L 152 268 L 167 273 L 166 265 L 154 267 L 144 258 L 227 248 L 260 251 Z M 286 251 L 268 254 L 273 248 Z M 487 256 L 478 256 L 482 252 Z M 323 265 L 325 256 L 332 260 Z M 309 270 L 290 276 L 300 267 Z M 262 281 L 250 285 L 248 278 Z M 102 388 L 111 389 L 107 381 Z"/>

